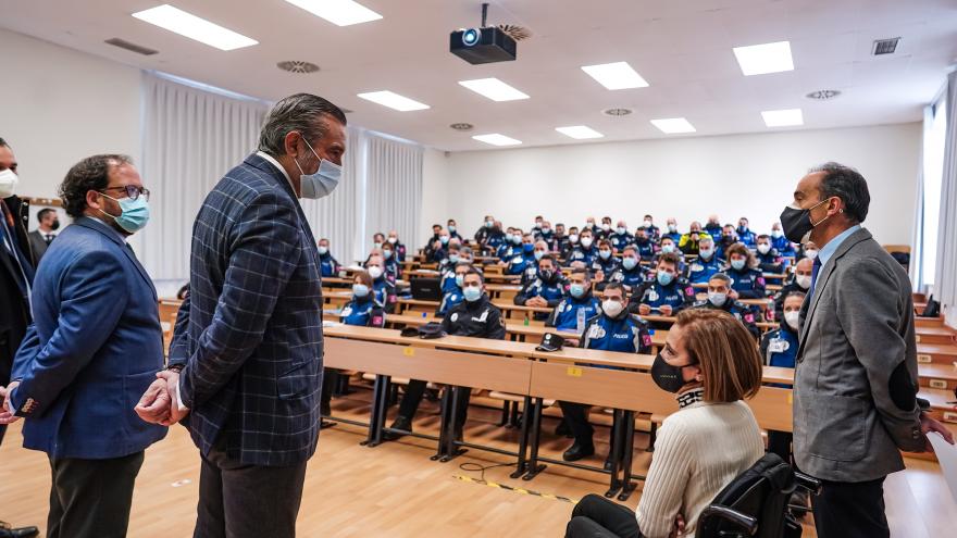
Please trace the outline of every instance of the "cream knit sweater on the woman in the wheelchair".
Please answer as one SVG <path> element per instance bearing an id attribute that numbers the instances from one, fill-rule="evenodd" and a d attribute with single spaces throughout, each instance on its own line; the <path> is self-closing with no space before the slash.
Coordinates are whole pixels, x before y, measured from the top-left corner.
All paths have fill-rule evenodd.
<path id="1" fill-rule="evenodd" d="M 761 431 L 743 402 L 695 402 L 664 420 L 635 512 L 647 538 L 666 538 L 681 513 L 685 536 L 732 479 L 765 453 Z"/>

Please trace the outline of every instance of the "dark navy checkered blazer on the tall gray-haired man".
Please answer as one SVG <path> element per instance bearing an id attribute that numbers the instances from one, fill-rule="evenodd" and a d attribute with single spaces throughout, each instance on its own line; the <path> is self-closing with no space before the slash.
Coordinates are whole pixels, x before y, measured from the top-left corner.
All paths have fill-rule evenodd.
<path id="1" fill-rule="evenodd" d="M 185 365 L 194 442 L 243 464 L 309 459 L 322 386 L 321 267 L 281 171 L 253 154 L 220 180 L 196 217 L 189 265 L 170 364 Z"/>

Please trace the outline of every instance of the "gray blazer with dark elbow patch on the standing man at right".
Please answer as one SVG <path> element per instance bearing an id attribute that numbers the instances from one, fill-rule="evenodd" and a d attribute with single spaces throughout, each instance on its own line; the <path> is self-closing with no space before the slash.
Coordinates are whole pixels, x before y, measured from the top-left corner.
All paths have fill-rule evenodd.
<path id="1" fill-rule="evenodd" d="M 821 267 L 813 297 L 800 310 L 798 468 L 848 483 L 903 470 L 899 450 L 924 445 L 917 381 L 910 280 L 861 228 Z"/>

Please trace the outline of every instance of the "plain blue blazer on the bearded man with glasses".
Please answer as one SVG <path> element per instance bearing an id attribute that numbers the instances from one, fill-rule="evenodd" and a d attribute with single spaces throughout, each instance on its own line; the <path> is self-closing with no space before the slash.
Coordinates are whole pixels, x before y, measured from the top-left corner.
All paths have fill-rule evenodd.
<path id="1" fill-rule="evenodd" d="M 11 396 L 24 447 L 100 460 L 166 435 L 133 411 L 163 367 L 163 330 L 152 280 L 116 230 L 88 217 L 67 226 L 37 270 L 32 305 Z"/>

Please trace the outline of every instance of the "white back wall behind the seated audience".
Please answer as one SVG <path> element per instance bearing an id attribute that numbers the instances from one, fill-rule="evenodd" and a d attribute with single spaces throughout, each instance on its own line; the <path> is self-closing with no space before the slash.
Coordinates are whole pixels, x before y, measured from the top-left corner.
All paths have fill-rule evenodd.
<path id="1" fill-rule="evenodd" d="M 460 152 L 444 167 L 426 166 L 424 183 L 431 196 L 446 193 L 444 209 L 428 210 L 432 220 L 455 217 L 470 234 L 487 213 L 524 229 L 536 214 L 579 226 L 607 214 L 633 229 L 650 213 L 659 225 L 675 216 L 683 230 L 718 213 L 722 223 L 744 215 L 766 232 L 808 167 L 837 161 L 868 179 L 866 225 L 878 241 L 910 243 L 920 134 L 911 123 Z"/>

